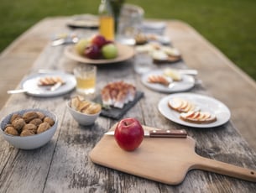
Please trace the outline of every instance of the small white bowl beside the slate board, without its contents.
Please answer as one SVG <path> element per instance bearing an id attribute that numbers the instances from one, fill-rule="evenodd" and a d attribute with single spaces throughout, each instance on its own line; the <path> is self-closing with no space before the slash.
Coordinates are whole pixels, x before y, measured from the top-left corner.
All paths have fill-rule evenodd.
<path id="1" fill-rule="evenodd" d="M 100 112 L 97 112 L 96 114 L 85 114 L 85 113 L 81 113 L 76 111 L 75 109 L 71 108 L 71 102 L 67 102 L 66 106 L 69 109 L 69 112 L 71 112 L 72 117 L 76 120 L 77 123 L 81 124 L 81 125 L 92 125 L 93 123 L 95 123 L 97 117 L 99 117 Z"/>

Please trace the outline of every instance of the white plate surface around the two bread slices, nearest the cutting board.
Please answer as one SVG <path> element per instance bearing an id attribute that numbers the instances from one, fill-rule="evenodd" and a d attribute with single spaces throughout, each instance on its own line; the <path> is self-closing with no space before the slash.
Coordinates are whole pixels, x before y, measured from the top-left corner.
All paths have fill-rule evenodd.
<path id="1" fill-rule="evenodd" d="M 207 111 L 207 112 L 214 113 L 217 117 L 217 121 L 213 123 L 196 124 L 196 123 L 188 123 L 181 120 L 180 112 L 176 112 L 175 110 L 172 110 L 170 109 L 170 107 L 168 107 L 168 102 L 170 101 L 170 99 L 175 97 L 184 98 L 186 100 L 194 102 L 196 106 L 200 107 L 202 112 Z M 206 97 L 203 95 L 193 94 L 193 93 L 171 94 L 160 100 L 158 104 L 158 108 L 159 108 L 159 112 L 162 115 L 164 115 L 166 118 L 170 119 L 170 121 L 179 123 L 181 125 L 193 127 L 193 128 L 214 128 L 224 123 L 227 123 L 227 121 L 230 119 L 230 111 L 227 108 L 227 106 L 224 105 L 222 102 L 212 97 Z"/>

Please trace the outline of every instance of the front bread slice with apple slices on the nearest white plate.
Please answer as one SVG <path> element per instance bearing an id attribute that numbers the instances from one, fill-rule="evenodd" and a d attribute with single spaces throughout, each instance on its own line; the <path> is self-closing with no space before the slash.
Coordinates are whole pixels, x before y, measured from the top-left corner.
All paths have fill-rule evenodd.
<path id="1" fill-rule="evenodd" d="M 190 123 L 213 123 L 217 121 L 217 117 L 211 112 L 181 112 L 180 119 Z"/>

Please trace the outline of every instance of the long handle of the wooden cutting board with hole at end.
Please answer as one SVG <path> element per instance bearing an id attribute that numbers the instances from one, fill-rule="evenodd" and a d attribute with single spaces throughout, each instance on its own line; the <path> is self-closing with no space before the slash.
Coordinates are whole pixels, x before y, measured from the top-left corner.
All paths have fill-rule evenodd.
<path id="1" fill-rule="evenodd" d="M 206 159 L 198 156 L 198 161 L 191 169 L 212 171 L 221 175 L 228 175 L 234 178 L 256 182 L 256 170 L 248 170 L 233 164 L 227 164 L 214 159 Z"/>

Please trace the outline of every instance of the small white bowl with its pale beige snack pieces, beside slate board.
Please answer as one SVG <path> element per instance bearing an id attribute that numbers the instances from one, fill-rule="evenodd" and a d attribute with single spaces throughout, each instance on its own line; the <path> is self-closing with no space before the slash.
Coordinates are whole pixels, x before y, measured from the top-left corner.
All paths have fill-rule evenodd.
<path id="1" fill-rule="evenodd" d="M 76 122 L 84 126 L 95 123 L 102 112 L 100 104 L 81 97 L 71 97 L 71 100 L 67 102 L 67 107 Z"/>

